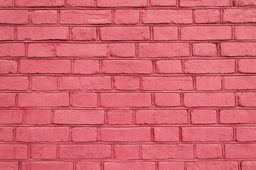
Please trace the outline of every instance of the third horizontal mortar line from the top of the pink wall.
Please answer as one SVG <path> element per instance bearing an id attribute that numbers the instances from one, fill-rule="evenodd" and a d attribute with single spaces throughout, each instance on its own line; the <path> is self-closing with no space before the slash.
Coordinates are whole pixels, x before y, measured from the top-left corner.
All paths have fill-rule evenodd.
<path id="1" fill-rule="evenodd" d="M 256 40 L 112 40 L 112 41 L 69 41 L 69 40 L 3 40 L 1 43 L 63 43 L 63 44 L 109 44 L 109 43 L 137 43 L 137 44 L 154 44 L 154 43 L 222 43 L 225 42 L 256 42 Z"/>

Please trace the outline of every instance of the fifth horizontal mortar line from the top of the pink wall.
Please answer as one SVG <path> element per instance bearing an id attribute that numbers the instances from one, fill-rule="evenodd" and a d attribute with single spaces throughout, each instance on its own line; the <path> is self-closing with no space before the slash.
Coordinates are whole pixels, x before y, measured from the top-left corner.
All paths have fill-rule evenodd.
<path id="1" fill-rule="evenodd" d="M 255 76 L 256 73 L 251 74 L 0 74 L 0 77 L 250 77 Z M 247 89 L 245 89 L 247 90 Z"/>

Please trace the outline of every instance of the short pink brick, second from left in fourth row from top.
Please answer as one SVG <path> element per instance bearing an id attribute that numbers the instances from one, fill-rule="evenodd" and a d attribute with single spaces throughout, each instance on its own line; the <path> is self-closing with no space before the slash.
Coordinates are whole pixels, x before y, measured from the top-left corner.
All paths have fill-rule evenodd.
<path id="1" fill-rule="evenodd" d="M 54 45 L 50 43 L 28 44 L 28 57 L 55 57 Z"/>

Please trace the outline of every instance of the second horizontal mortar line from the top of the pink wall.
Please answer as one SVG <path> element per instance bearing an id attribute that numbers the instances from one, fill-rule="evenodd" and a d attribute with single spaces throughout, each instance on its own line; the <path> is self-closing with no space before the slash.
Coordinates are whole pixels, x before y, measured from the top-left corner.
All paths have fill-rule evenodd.
<path id="1" fill-rule="evenodd" d="M 137 23 L 137 24 L 117 24 L 117 23 L 28 23 L 28 24 L 17 24 L 17 23 L 0 23 L 0 26 L 14 26 L 14 27 L 149 27 L 149 26 L 163 26 L 163 27 L 193 27 L 193 26 L 256 26 L 255 23 Z"/>

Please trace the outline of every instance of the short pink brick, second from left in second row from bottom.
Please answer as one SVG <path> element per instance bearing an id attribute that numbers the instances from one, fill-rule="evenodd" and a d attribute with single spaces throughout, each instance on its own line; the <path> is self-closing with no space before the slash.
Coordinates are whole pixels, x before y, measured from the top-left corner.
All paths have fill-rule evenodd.
<path id="1" fill-rule="evenodd" d="M 32 159 L 56 159 L 57 145 L 31 145 Z"/>

